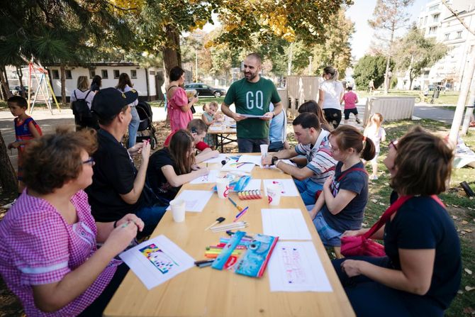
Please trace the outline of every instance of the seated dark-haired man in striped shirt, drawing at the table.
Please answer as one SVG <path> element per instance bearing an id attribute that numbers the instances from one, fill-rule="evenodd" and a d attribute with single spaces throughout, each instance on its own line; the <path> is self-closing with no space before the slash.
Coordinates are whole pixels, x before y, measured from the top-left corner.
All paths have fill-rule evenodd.
<path id="1" fill-rule="evenodd" d="M 303 202 L 313 205 L 315 192 L 322 190 L 325 179 L 335 173 L 337 162 L 330 150 L 330 133 L 320 128 L 320 121 L 315 113 L 301 113 L 292 124 L 298 145 L 294 149 L 280 150 L 272 157 L 262 157 L 262 164 L 275 165 L 282 172 L 294 177 Z M 306 157 L 306 166 L 299 168 L 281 161 L 297 155 Z"/>

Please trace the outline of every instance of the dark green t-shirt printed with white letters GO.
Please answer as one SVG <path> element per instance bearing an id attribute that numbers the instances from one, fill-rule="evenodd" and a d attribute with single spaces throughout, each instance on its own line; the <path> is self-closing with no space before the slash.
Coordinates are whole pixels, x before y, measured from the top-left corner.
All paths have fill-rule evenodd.
<path id="1" fill-rule="evenodd" d="M 269 79 L 260 78 L 259 82 L 247 82 L 243 78 L 233 82 L 229 87 L 224 103 L 234 104 L 237 113 L 262 116 L 269 112 L 269 104 L 280 102 L 280 96 L 274 83 Z M 262 139 L 269 138 L 269 121 L 260 118 L 247 118 L 237 123 L 238 138 Z"/>

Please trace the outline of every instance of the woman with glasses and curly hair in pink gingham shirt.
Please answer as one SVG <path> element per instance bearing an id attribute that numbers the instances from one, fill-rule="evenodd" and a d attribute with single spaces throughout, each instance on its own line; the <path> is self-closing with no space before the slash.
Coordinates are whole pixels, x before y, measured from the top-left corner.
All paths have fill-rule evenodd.
<path id="1" fill-rule="evenodd" d="M 133 214 L 94 222 L 83 189 L 96 148 L 94 130 L 57 130 L 26 149 L 26 189 L 0 223 L 0 274 L 27 316 L 101 316 L 127 272 L 113 258 L 144 225 Z"/>

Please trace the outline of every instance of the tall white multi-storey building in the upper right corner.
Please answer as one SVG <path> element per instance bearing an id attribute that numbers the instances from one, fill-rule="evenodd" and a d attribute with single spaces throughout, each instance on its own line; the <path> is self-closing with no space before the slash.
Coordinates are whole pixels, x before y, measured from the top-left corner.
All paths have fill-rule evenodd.
<path id="1" fill-rule="evenodd" d="M 447 1 L 447 4 L 471 30 L 475 30 L 475 0 L 452 0 Z M 426 38 L 435 38 L 438 43 L 447 45 L 449 50 L 444 58 L 426 69 L 421 77 L 414 79 L 413 87 L 425 89 L 433 84 L 459 91 L 466 65 L 470 58 L 475 58 L 472 54 L 475 36 L 462 26 L 440 0 L 425 5 L 419 16 L 418 28 L 423 30 Z M 398 88 L 409 88 L 408 74 L 398 78 Z"/>

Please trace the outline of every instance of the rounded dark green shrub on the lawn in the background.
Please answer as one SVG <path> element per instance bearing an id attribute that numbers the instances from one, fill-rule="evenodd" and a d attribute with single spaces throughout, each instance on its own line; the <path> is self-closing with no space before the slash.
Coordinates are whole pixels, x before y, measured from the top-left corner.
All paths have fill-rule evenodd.
<path id="1" fill-rule="evenodd" d="M 389 62 L 390 67 L 394 67 L 393 60 Z M 357 89 L 367 89 L 369 81 L 373 79 L 374 87 L 377 89 L 384 83 L 386 72 L 386 57 L 383 55 L 364 55 L 354 65 L 353 77 L 357 84 Z"/>

